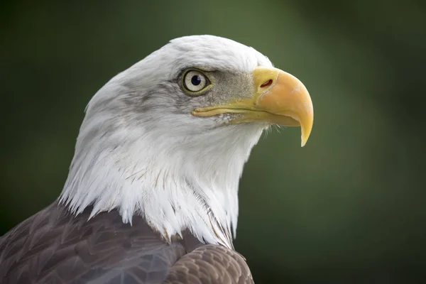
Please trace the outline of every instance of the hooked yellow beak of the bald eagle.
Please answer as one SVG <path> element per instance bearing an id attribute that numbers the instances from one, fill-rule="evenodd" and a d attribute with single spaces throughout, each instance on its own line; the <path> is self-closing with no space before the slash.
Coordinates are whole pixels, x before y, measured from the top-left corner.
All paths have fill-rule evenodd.
<path id="1" fill-rule="evenodd" d="M 293 75 L 277 68 L 257 67 L 253 70 L 253 97 L 229 104 L 195 109 L 195 116 L 241 114 L 231 124 L 263 121 L 282 126 L 300 126 L 302 147 L 314 123 L 314 108 L 306 87 Z"/>

